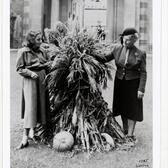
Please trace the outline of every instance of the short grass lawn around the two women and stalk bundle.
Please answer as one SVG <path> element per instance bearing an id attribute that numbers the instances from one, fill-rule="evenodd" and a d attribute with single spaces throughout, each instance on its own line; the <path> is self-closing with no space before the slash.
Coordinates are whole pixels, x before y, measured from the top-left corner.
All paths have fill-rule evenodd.
<path id="1" fill-rule="evenodd" d="M 152 58 L 147 58 L 148 80 L 144 97 L 144 121 L 137 123 L 135 134 L 138 143 L 130 151 L 110 151 L 95 153 L 89 159 L 79 153 L 72 158 L 71 153 L 58 153 L 43 144 L 33 144 L 23 150 L 15 150 L 22 138 L 20 119 L 21 77 L 16 73 L 16 52 L 11 51 L 10 65 L 10 163 L 11 168 L 152 168 Z M 111 84 L 112 85 L 112 84 Z M 110 84 L 109 84 L 110 86 Z M 112 89 L 103 93 L 109 107 Z M 120 123 L 120 118 L 117 118 Z"/>

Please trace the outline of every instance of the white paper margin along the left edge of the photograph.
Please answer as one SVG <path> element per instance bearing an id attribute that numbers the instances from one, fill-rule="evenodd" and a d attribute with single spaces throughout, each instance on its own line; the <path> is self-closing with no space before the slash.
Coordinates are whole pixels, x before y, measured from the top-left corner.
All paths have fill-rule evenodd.
<path id="1" fill-rule="evenodd" d="M 10 168 L 10 0 L 2 3 L 2 167 Z"/>

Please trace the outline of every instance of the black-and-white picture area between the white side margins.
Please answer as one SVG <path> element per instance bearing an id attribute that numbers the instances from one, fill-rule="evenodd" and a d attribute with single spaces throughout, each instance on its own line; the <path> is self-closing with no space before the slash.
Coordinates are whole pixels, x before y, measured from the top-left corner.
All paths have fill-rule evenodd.
<path id="1" fill-rule="evenodd" d="M 156 168 L 153 0 L 9 4 L 10 168 Z"/>

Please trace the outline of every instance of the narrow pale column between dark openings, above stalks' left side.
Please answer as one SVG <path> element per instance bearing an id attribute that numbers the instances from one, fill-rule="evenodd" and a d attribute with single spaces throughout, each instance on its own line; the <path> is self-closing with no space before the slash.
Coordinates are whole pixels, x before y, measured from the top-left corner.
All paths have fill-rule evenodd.
<path id="1" fill-rule="evenodd" d="M 60 1 L 52 0 L 51 2 L 51 28 L 59 21 Z"/>

